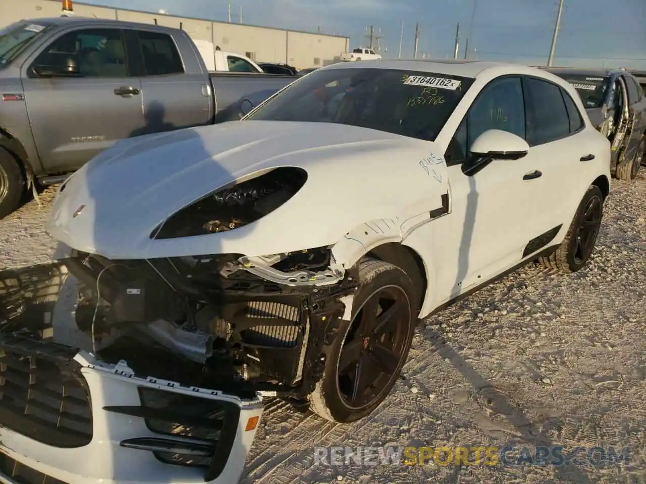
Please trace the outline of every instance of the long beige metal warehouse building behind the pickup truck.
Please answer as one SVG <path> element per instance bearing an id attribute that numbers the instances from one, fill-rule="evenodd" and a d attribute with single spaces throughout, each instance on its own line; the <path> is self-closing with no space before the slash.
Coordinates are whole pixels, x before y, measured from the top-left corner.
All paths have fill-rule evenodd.
<path id="1" fill-rule="evenodd" d="M 193 39 L 213 42 L 222 50 L 246 54 L 255 61 L 282 62 L 299 69 L 324 66 L 346 52 L 349 38 L 339 35 L 313 34 L 205 19 L 152 14 L 135 10 L 108 8 L 74 2 L 74 14 L 83 17 L 158 23 L 183 28 Z M 0 0 L 0 26 L 20 19 L 58 17 L 60 0 Z"/>

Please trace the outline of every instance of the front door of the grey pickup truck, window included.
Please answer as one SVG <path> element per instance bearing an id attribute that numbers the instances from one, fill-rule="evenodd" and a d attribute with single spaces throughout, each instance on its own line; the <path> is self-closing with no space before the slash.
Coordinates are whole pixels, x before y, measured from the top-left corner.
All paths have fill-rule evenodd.
<path id="1" fill-rule="evenodd" d="M 77 74 L 64 74 L 68 62 L 76 63 Z M 67 30 L 34 52 L 21 77 L 34 142 L 48 174 L 80 168 L 144 124 L 141 84 L 130 76 L 120 29 Z"/>

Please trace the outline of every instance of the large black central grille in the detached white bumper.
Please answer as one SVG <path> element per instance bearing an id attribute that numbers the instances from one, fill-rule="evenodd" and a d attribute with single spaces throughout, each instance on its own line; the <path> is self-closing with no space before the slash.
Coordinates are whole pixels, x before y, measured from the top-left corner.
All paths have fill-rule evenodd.
<path id="1" fill-rule="evenodd" d="M 0 425 L 53 447 L 89 444 L 92 409 L 82 378 L 43 353 L 1 345 Z"/>

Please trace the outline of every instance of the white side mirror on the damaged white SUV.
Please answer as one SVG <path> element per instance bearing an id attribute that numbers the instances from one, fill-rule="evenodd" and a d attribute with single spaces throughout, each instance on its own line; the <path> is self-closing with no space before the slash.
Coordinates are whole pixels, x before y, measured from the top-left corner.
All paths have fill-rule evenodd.
<path id="1" fill-rule="evenodd" d="M 472 176 L 495 159 L 519 159 L 529 152 L 527 142 L 516 134 L 487 130 L 471 146 L 471 159 L 464 164 L 465 175 Z"/>

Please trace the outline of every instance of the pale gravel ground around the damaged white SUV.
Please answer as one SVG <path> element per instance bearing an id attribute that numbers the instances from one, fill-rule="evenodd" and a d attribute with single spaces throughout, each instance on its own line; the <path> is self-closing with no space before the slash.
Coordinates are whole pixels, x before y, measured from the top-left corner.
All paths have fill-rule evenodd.
<path id="1" fill-rule="evenodd" d="M 0 267 L 47 261 L 53 190 L 0 221 Z M 336 425 L 267 405 L 246 483 L 646 482 L 646 176 L 613 181 L 594 259 L 536 265 L 421 325 L 401 381 L 373 415 Z M 330 467 L 315 446 L 630 447 L 629 465 Z M 516 453 L 509 456 L 515 458 Z M 581 454 L 585 458 L 585 452 Z M 471 463 L 474 462 L 470 458 Z"/>

